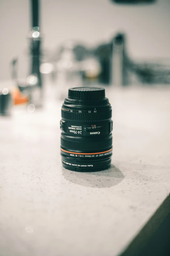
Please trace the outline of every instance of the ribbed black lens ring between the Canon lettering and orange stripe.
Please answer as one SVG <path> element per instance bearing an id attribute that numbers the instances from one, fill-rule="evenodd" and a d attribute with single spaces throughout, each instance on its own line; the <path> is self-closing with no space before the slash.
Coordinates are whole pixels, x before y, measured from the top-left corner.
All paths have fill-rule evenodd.
<path id="1" fill-rule="evenodd" d="M 68 150 L 90 151 L 111 147 L 112 138 L 102 141 L 72 141 L 61 138 L 61 145 Z"/>

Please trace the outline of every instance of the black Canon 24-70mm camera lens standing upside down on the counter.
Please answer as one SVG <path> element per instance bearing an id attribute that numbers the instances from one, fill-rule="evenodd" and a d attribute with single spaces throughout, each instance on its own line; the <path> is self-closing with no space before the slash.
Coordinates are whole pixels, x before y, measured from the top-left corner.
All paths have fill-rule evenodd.
<path id="1" fill-rule="evenodd" d="M 112 155 L 112 110 L 104 88 L 68 90 L 60 121 L 62 163 L 66 169 L 105 170 Z"/>

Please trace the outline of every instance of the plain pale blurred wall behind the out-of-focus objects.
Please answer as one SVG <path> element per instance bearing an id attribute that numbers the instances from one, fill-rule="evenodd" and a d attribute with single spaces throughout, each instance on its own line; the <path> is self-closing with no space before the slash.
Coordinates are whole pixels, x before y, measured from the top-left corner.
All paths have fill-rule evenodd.
<path id="1" fill-rule="evenodd" d="M 43 47 L 66 39 L 95 45 L 118 31 L 127 33 L 134 58 L 170 58 L 170 1 L 117 5 L 110 0 L 41 0 Z M 0 0 L 0 79 L 9 79 L 9 62 L 19 57 L 19 76 L 28 74 L 29 0 Z"/>

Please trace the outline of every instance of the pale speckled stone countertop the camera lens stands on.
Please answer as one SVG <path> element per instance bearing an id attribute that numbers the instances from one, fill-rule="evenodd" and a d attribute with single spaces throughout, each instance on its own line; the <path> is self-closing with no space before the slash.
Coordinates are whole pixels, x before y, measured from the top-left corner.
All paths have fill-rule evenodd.
<path id="1" fill-rule="evenodd" d="M 62 167 L 62 102 L 0 117 L 0 255 L 119 255 L 170 193 L 170 89 L 106 96 L 113 156 L 101 172 Z"/>

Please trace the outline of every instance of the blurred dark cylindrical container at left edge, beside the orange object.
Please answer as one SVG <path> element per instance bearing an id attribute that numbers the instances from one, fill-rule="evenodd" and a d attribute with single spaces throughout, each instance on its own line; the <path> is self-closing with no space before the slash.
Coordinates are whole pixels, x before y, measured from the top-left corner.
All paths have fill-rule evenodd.
<path id="1" fill-rule="evenodd" d="M 0 91 L 0 115 L 10 116 L 12 97 L 7 88 Z"/>

